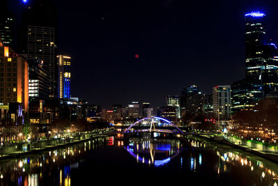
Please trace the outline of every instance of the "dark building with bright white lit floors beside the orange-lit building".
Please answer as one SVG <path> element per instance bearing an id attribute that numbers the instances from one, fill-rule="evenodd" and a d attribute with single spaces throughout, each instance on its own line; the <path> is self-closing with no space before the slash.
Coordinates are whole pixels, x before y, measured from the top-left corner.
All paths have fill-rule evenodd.
<path id="1" fill-rule="evenodd" d="M 29 60 L 29 100 L 47 100 L 49 97 L 49 73 L 40 59 Z"/>

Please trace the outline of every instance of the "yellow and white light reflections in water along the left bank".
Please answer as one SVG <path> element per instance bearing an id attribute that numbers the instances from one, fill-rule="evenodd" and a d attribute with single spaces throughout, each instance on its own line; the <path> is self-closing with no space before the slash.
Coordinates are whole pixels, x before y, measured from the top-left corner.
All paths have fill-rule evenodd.
<path id="1" fill-rule="evenodd" d="M 86 150 L 104 145 L 104 138 L 0 162 L 0 185 L 71 185 Z"/>

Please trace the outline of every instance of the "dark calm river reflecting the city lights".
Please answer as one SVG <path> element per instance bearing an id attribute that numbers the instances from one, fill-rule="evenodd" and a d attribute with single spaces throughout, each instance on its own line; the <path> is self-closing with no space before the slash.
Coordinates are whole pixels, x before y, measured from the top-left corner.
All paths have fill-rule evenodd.
<path id="1" fill-rule="evenodd" d="M 194 137 L 103 137 L 3 160 L 0 185 L 277 185 L 277 173 L 268 160 Z"/>

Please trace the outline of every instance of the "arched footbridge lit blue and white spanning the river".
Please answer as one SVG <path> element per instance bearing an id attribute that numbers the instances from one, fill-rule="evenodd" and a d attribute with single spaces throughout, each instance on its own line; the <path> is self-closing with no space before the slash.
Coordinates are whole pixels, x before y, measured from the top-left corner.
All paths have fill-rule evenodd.
<path id="1" fill-rule="evenodd" d="M 165 132 L 165 133 L 183 133 L 183 131 L 171 123 L 170 121 L 167 121 L 165 118 L 160 117 L 147 117 L 142 118 L 135 123 L 133 123 L 131 126 L 129 126 L 124 133 L 131 132 L 130 129 L 133 126 L 140 126 L 140 127 L 147 127 L 147 129 L 139 130 L 138 132 Z M 169 130 L 170 127 L 175 127 L 176 130 Z M 167 128 L 167 129 L 163 129 Z"/>

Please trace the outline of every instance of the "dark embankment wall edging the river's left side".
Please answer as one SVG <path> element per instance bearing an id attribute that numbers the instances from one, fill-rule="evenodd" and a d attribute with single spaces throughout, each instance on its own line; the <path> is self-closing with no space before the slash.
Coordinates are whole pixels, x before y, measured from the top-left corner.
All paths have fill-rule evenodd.
<path id="1" fill-rule="evenodd" d="M 0 156 L 0 160 L 7 160 L 7 159 L 15 158 L 15 157 L 21 157 L 21 156 L 24 156 L 24 155 L 40 153 L 42 151 L 53 150 L 53 149 L 56 149 L 56 148 L 63 148 L 65 146 L 72 146 L 74 144 L 79 144 L 79 143 L 82 143 L 84 141 L 89 141 L 91 139 L 95 139 L 95 138 L 98 138 L 98 137 L 107 137 L 107 135 L 106 134 L 95 134 L 95 135 L 92 135 L 92 136 L 90 136 L 88 138 L 85 138 L 85 139 L 70 141 L 70 142 L 67 142 L 67 143 L 64 143 L 64 144 L 56 144 L 54 146 L 44 146 L 44 147 L 41 147 L 41 148 L 35 148 L 35 149 L 32 149 L 32 150 L 28 150 L 26 152 L 10 153 L 8 155 Z"/>

